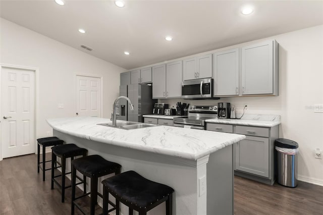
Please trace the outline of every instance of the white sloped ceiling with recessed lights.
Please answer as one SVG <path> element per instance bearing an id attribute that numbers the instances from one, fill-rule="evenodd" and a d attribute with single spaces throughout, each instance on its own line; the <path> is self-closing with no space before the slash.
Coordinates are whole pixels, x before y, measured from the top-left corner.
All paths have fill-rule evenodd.
<path id="1" fill-rule="evenodd" d="M 1 0 L 0 15 L 125 69 L 323 24 L 323 1 L 65 2 Z M 254 12 L 244 16 L 247 4 Z"/>

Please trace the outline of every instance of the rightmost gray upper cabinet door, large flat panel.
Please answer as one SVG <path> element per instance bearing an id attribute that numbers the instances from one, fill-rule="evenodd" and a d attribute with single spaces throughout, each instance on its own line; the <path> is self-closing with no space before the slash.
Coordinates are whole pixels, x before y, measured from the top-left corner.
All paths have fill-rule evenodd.
<path id="1" fill-rule="evenodd" d="M 242 94 L 273 93 L 273 40 L 242 47 Z"/>

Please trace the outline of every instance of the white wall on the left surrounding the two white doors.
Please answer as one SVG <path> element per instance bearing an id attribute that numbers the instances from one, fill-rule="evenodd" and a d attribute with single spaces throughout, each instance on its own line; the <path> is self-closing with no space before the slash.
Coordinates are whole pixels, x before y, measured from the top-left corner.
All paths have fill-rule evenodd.
<path id="1" fill-rule="evenodd" d="M 36 138 L 52 134 L 48 118 L 74 117 L 75 74 L 103 77 L 103 117 L 110 118 L 125 69 L 1 19 L 0 63 L 39 69 Z M 63 103 L 64 109 L 58 109 Z"/>

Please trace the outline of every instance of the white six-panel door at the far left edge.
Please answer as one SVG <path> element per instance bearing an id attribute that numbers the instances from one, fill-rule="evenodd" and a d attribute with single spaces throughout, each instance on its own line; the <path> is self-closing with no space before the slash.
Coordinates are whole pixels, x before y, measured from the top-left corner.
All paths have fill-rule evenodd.
<path id="1" fill-rule="evenodd" d="M 35 73 L 1 67 L 2 157 L 35 152 Z"/>

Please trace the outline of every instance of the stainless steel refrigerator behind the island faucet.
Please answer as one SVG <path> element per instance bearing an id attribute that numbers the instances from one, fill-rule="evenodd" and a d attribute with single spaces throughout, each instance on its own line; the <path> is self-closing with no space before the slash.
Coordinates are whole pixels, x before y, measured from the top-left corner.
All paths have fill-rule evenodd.
<path id="1" fill-rule="evenodd" d="M 117 102 L 116 116 L 117 120 L 127 120 L 132 122 L 143 122 L 143 115 L 152 114 L 153 105 L 157 102 L 152 99 L 152 86 L 146 84 L 122 85 L 119 88 L 120 96 L 127 96 L 134 110 L 129 109 L 126 99 L 120 99 Z"/>

